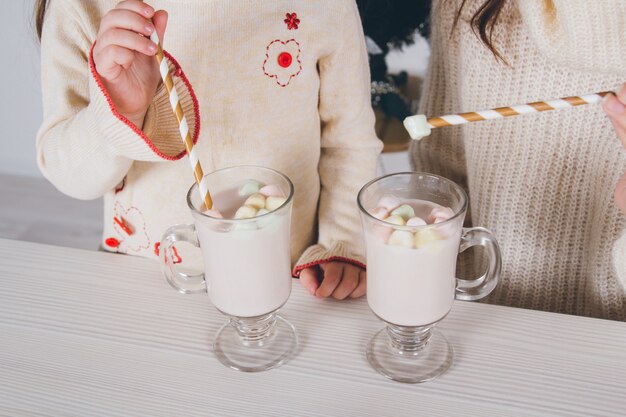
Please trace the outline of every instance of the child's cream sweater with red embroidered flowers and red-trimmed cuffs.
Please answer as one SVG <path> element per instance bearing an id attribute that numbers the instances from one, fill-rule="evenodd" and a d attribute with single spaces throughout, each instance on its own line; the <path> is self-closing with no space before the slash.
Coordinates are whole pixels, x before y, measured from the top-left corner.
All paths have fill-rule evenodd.
<path id="1" fill-rule="evenodd" d="M 185 194 L 193 176 L 165 89 L 142 132 L 117 113 L 93 69 L 99 22 L 116 3 L 50 2 L 38 160 L 62 192 L 104 196 L 105 249 L 155 258 L 165 229 L 192 221 Z M 165 46 L 180 63 L 171 69 L 204 170 L 253 164 L 291 178 L 294 274 L 331 259 L 361 265 L 356 195 L 376 174 L 381 144 L 354 1 L 151 5 L 169 12 Z M 281 66 L 281 53 L 291 62 Z"/>

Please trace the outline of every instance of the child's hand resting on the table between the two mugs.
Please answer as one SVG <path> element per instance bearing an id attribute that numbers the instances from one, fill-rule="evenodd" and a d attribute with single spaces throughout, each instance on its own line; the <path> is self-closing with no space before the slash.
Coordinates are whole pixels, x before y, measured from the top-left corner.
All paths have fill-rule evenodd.
<path id="1" fill-rule="evenodd" d="M 332 296 L 337 300 L 365 295 L 367 276 L 364 269 L 345 262 L 328 262 L 304 269 L 300 283 L 316 297 Z"/>

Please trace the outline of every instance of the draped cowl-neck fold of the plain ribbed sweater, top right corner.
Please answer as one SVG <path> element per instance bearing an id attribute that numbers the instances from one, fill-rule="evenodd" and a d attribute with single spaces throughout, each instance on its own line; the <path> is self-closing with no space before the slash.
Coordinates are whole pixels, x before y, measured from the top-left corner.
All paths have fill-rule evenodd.
<path id="1" fill-rule="evenodd" d="M 624 75 L 626 2 L 517 0 L 533 43 L 569 68 Z"/>

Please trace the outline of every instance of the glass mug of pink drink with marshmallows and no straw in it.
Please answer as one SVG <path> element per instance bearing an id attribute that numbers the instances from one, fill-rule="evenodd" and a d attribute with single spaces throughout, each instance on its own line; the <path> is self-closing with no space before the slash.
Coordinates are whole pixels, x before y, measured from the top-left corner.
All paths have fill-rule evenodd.
<path id="1" fill-rule="evenodd" d="M 370 214 L 385 196 L 423 209 L 435 203 L 451 208 L 453 215 L 440 223 L 397 226 Z M 498 243 L 486 229 L 463 228 L 467 201 L 465 191 L 454 182 L 416 172 L 374 179 L 359 192 L 367 252 L 367 301 L 386 323 L 370 341 L 367 359 L 387 378 L 417 383 L 444 373 L 452 364 L 453 350 L 435 326 L 448 314 L 455 298 L 478 300 L 498 282 L 502 263 Z M 389 244 L 394 231 L 409 236 L 413 246 Z M 476 245 L 487 254 L 486 273 L 476 280 L 456 278 L 458 254 Z"/>

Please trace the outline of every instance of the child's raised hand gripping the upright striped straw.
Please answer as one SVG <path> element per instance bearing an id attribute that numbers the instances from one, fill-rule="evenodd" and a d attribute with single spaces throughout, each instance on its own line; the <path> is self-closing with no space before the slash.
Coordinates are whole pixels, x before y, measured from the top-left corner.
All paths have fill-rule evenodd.
<path id="1" fill-rule="evenodd" d="M 157 48 L 149 37 L 156 26 L 163 42 L 166 25 L 165 11 L 155 12 L 139 0 L 122 1 L 102 18 L 93 49 L 96 71 L 117 110 L 140 129 L 161 80 Z"/>

